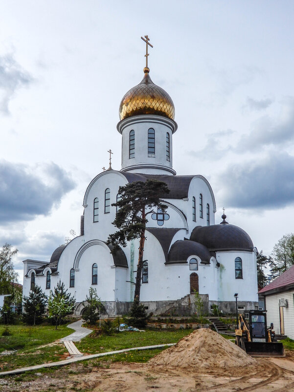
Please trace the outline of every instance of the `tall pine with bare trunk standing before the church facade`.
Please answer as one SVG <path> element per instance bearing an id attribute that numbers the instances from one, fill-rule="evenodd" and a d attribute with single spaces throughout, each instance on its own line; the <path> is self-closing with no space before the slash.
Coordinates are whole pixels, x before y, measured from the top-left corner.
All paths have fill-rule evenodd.
<path id="1" fill-rule="evenodd" d="M 108 243 L 114 245 L 114 252 L 120 245 L 127 246 L 127 241 L 140 238 L 134 302 L 140 300 L 147 215 L 155 212 L 152 209 L 154 207 L 160 208 L 163 213 L 165 212 L 166 206 L 162 203 L 160 197 L 168 193 L 167 185 L 161 181 L 136 181 L 120 186 L 118 194 L 121 198 L 112 204 L 112 206 L 117 207 L 113 225 L 118 228 L 118 231 L 109 235 Z"/>

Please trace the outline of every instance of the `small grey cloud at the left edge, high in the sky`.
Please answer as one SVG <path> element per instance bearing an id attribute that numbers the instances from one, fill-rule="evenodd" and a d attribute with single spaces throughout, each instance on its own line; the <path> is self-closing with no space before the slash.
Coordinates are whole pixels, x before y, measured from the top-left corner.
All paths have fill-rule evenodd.
<path id="1" fill-rule="evenodd" d="M 32 76 L 22 69 L 12 54 L 0 56 L 0 112 L 8 115 L 10 99 L 18 89 L 32 81 Z"/>

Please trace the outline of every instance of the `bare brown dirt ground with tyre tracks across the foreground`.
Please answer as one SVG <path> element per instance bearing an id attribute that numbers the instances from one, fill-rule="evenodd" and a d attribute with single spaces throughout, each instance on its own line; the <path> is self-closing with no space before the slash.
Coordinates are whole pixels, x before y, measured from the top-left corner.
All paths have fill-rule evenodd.
<path id="1" fill-rule="evenodd" d="M 108 366 L 104 363 L 103 366 Z M 0 379 L 1 392 L 291 392 L 294 391 L 294 354 L 285 358 L 257 359 L 257 365 L 230 374 L 213 369 L 195 371 L 152 364 L 111 364 L 108 369 L 93 361 L 88 367 L 74 364 L 32 381 L 18 377 Z"/>

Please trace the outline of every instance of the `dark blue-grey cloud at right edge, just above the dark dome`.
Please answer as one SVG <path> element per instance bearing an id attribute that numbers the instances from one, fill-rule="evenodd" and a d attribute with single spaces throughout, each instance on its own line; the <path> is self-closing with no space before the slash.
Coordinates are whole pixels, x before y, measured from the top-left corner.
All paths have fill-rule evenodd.
<path id="1" fill-rule="evenodd" d="M 229 207 L 265 210 L 294 204 L 294 157 L 287 153 L 231 165 L 218 180 Z"/>

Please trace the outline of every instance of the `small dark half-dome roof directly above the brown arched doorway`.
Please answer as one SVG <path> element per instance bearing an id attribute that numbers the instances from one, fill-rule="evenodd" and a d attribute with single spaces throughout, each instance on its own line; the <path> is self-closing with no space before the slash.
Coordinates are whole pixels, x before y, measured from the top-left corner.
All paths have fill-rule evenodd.
<path id="1" fill-rule="evenodd" d="M 199 242 L 189 240 L 179 240 L 171 246 L 166 264 L 186 263 L 187 258 L 192 255 L 199 256 L 203 263 L 209 264 L 211 256 L 208 249 Z"/>

